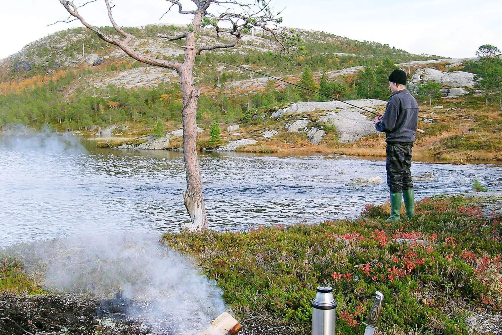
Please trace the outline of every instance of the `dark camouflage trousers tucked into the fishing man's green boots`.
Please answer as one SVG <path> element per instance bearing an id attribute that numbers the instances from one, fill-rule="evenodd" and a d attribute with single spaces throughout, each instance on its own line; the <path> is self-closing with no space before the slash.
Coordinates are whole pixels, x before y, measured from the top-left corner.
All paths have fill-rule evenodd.
<path id="1" fill-rule="evenodd" d="M 387 185 L 392 193 L 413 189 L 411 151 L 413 142 L 387 143 Z"/>

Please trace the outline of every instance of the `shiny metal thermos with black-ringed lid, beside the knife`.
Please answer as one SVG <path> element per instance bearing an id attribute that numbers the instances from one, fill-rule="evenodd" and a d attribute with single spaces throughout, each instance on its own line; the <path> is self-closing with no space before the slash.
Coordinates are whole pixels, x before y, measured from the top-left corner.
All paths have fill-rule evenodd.
<path id="1" fill-rule="evenodd" d="M 334 335 L 336 326 L 336 301 L 333 288 L 319 286 L 312 300 L 312 335 Z"/>

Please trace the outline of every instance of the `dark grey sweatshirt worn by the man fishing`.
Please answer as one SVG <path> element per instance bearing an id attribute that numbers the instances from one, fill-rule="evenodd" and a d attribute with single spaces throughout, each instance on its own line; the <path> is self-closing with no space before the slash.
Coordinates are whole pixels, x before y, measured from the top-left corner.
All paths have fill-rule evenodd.
<path id="1" fill-rule="evenodd" d="M 382 121 L 375 128 L 385 132 L 388 143 L 415 142 L 417 124 L 418 103 L 410 91 L 402 90 L 391 96 Z"/>

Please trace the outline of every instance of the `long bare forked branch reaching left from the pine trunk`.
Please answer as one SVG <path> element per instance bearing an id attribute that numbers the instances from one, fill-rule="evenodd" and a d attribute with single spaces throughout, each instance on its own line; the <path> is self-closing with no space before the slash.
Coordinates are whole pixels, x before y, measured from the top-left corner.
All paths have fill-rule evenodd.
<path id="1" fill-rule="evenodd" d="M 159 67 L 165 67 L 165 68 L 172 68 L 175 69 L 176 71 L 180 71 L 181 69 L 181 63 L 179 62 L 174 62 L 174 61 L 169 61 L 169 60 L 164 60 L 164 59 L 159 59 L 159 58 L 153 58 L 147 55 L 140 54 L 136 52 L 133 48 L 131 48 L 128 45 L 128 42 L 134 37 L 133 35 L 123 31 L 116 23 L 115 20 L 113 20 L 113 17 L 111 15 L 111 7 L 109 5 L 108 0 L 105 0 L 106 7 L 108 8 L 108 18 L 110 19 L 111 24 L 113 25 L 113 28 L 123 37 L 126 37 L 125 40 L 121 41 L 118 38 L 111 37 L 109 35 L 104 34 L 99 28 L 94 27 L 93 25 L 89 24 L 85 19 L 78 13 L 78 7 L 73 4 L 72 1 L 67 1 L 67 0 L 59 0 L 61 5 L 70 13 L 71 16 L 77 18 L 86 28 L 92 30 L 100 39 L 118 46 L 122 51 L 127 53 L 129 56 L 132 58 L 154 66 L 159 66 Z"/>

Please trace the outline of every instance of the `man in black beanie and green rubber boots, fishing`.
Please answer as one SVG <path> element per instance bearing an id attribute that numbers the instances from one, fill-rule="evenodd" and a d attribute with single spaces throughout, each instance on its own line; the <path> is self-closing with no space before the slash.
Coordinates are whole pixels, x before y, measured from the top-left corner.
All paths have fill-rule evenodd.
<path id="1" fill-rule="evenodd" d="M 414 217 L 415 210 L 410 167 L 418 124 L 418 103 L 406 89 L 406 80 L 405 71 L 396 69 L 391 73 L 391 98 L 384 115 L 373 120 L 376 130 L 386 134 L 387 185 L 391 190 L 391 216 L 386 222 L 399 220 L 401 197 L 405 201 L 407 217 Z"/>

